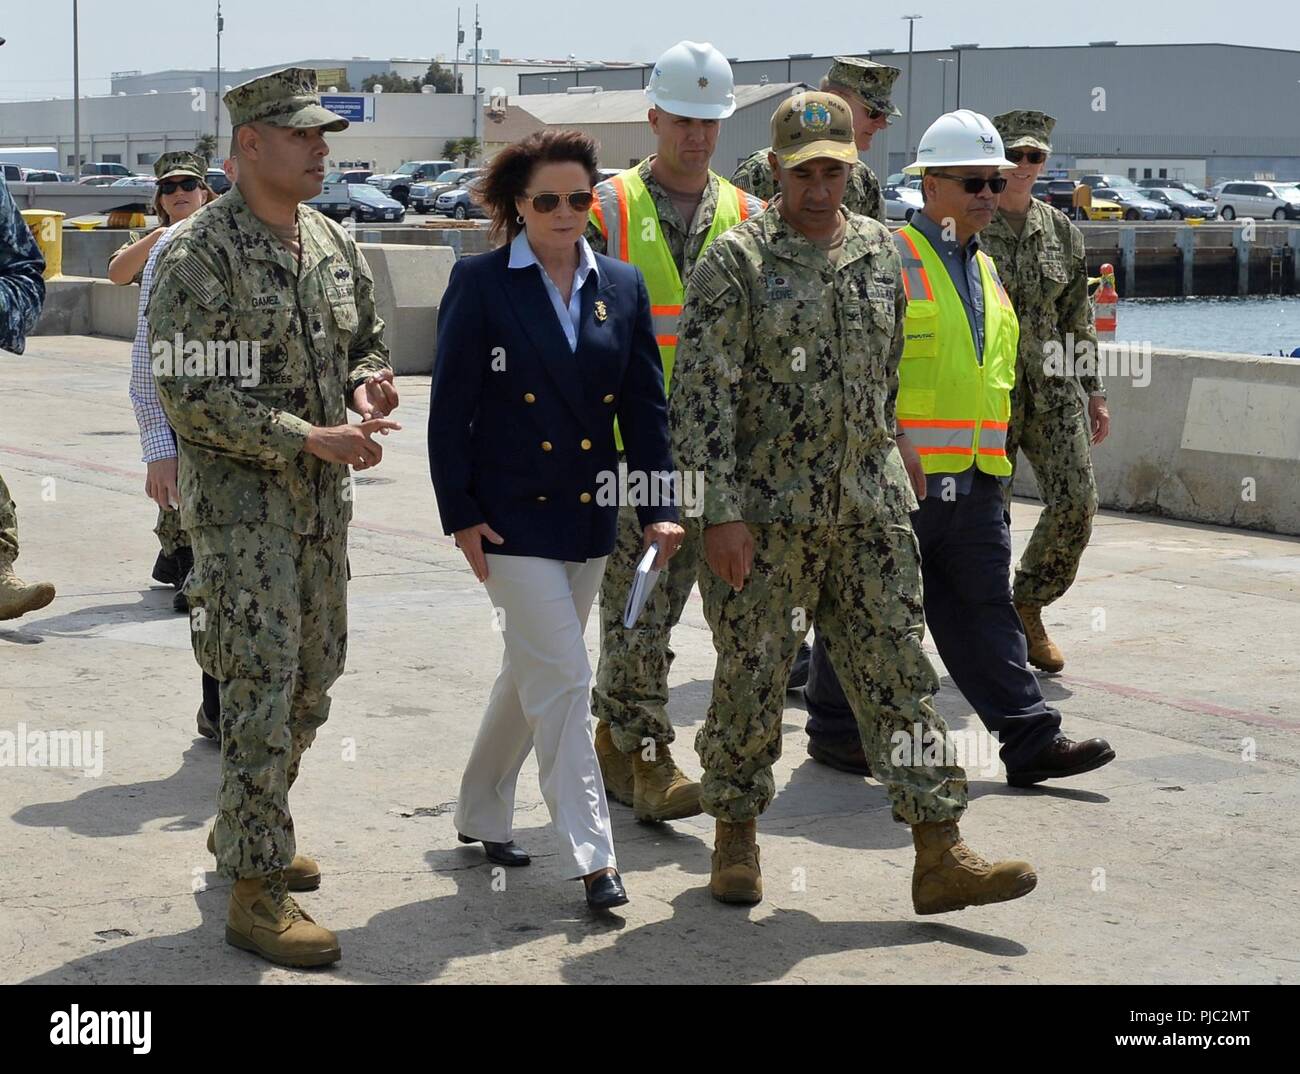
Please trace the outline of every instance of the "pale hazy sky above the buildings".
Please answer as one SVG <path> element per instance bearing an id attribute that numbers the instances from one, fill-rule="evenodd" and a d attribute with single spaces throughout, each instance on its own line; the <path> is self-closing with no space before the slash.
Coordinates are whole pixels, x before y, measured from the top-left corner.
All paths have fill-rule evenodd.
<path id="1" fill-rule="evenodd" d="M 727 0 L 711 9 L 698 0 L 655 0 L 650 12 L 629 18 L 627 29 L 611 38 L 598 13 L 620 7 L 494 0 L 480 5 L 482 44 L 511 59 L 564 59 L 572 52 L 584 60 L 653 60 L 682 38 L 712 42 L 725 55 L 741 59 L 906 49 L 907 23 L 900 17 L 920 14 L 916 48 L 957 42 L 1084 44 L 1089 39 L 1300 48 L 1300 20 L 1284 17 L 1287 4 L 1273 8 L 1268 17 L 1239 18 L 1225 17 L 1231 8 L 1219 0 L 1180 0 L 1173 8 L 1149 4 L 1147 12 L 1132 5 L 1080 7 L 1062 0 L 1032 7 L 970 0 L 831 5 Z M 0 100 L 72 95 L 72 0 L 0 0 L 0 36 L 8 39 L 0 48 Z M 117 70 L 213 66 L 216 8 L 216 0 L 81 0 L 82 92 L 107 94 L 108 75 Z M 1080 10 L 1098 8 L 1121 10 L 1122 16 L 1114 22 L 1092 13 L 1080 20 Z M 465 22 L 473 21 L 472 4 L 460 10 Z M 222 68 L 352 56 L 432 57 L 439 52 L 450 59 L 455 48 L 454 3 L 224 0 L 222 13 Z M 1201 29 L 1193 33 L 1190 26 Z M 467 40 L 472 36 L 465 35 Z"/>

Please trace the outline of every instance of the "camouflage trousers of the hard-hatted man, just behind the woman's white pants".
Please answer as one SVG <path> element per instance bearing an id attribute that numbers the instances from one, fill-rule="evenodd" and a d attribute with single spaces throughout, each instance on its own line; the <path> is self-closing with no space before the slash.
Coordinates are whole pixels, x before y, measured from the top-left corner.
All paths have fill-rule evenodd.
<path id="1" fill-rule="evenodd" d="M 681 525 L 686 537 L 629 631 L 623 625 L 623 609 L 644 537 L 636 508 L 619 507 L 619 536 L 601 583 L 601 661 L 592 689 L 592 714 L 610 724 L 614 745 L 624 753 L 641 749 L 645 739 L 659 745 L 675 739 L 667 710 L 673 658 L 670 635 L 703 563 L 699 519 L 684 517 Z"/>

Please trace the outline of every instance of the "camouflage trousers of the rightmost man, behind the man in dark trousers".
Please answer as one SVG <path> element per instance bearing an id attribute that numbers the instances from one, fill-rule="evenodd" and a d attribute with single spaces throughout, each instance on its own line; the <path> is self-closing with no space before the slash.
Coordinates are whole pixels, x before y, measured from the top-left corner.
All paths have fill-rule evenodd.
<path id="1" fill-rule="evenodd" d="M 1092 536 L 1097 514 L 1097 482 L 1092 476 L 1088 415 L 1075 400 L 1063 407 L 1035 408 L 1028 393 L 1013 391 L 1006 456 L 1017 451 L 1034 467 L 1043 514 L 1020 554 L 1011 586 L 1018 605 L 1050 605 L 1072 584 Z M 1011 507 L 1011 485 L 1006 485 Z"/>

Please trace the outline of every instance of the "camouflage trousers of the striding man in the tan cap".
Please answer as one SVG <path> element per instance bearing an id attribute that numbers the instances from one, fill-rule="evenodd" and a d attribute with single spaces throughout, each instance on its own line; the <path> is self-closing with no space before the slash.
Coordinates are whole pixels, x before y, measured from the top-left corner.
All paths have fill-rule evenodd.
<path id="1" fill-rule="evenodd" d="M 772 801 L 785 684 L 816 620 L 894 819 L 956 820 L 966 809 L 966 772 L 922 763 L 956 754 L 931 701 L 939 676 L 920 648 L 920 553 L 907 519 L 749 528 L 754 566 L 738 593 L 707 566 L 699 571 L 718 650 L 708 715 L 696 736 L 705 811 L 734 823 L 758 817 Z M 896 733 L 935 748 L 900 754 Z"/>

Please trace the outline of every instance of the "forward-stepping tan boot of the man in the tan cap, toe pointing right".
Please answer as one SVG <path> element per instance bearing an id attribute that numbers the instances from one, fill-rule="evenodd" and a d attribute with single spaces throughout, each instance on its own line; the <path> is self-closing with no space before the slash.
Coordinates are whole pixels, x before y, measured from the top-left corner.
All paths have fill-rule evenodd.
<path id="1" fill-rule="evenodd" d="M 962 843 L 956 820 L 911 826 L 916 867 L 911 905 L 918 914 L 946 914 L 966 906 L 1008 902 L 1039 883 L 1028 862 L 991 865 Z"/>

